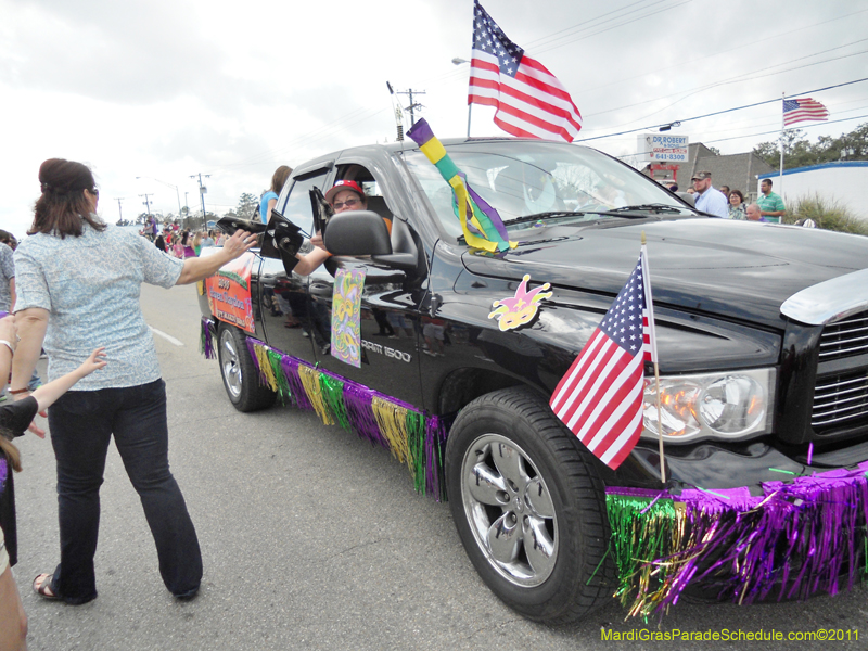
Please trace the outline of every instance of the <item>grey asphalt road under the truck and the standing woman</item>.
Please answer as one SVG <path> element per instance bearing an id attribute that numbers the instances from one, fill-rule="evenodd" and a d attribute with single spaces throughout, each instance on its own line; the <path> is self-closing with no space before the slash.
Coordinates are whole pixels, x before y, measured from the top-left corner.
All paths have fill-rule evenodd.
<path id="1" fill-rule="evenodd" d="M 18 439 L 24 472 L 15 477 L 20 562 L 14 572 L 29 616 L 30 650 L 868 646 L 864 586 L 803 603 L 682 602 L 662 622 L 625 621 L 626 611 L 615 600 L 570 626 L 524 620 L 478 578 L 448 506 L 417 495 L 407 468 L 388 451 L 291 407 L 248 414 L 234 410 L 217 362 L 199 354 L 194 288 L 145 285 L 142 309 L 159 331 L 154 337 L 167 384 L 169 456 L 202 545 L 202 590 L 196 599 L 179 602 L 164 588 L 138 497 L 112 446 L 101 493 L 99 598 L 69 607 L 35 596 L 30 582 L 53 571 L 58 561 L 58 507 L 50 442 L 28 434 Z M 44 366 L 40 370 L 44 378 Z M 786 636 L 820 628 L 845 631 L 845 639 L 604 638 L 607 631 L 641 638 L 674 630 L 763 629 Z M 853 639 L 854 631 L 861 641 Z"/>

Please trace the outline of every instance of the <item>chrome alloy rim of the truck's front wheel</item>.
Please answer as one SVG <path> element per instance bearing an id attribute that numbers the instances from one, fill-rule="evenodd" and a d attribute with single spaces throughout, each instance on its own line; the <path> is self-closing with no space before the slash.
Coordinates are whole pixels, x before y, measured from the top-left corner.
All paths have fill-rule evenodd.
<path id="1" fill-rule="evenodd" d="M 548 486 L 527 454 L 484 434 L 461 464 L 461 499 L 473 536 L 498 574 L 521 587 L 546 582 L 558 558 L 558 519 Z"/>

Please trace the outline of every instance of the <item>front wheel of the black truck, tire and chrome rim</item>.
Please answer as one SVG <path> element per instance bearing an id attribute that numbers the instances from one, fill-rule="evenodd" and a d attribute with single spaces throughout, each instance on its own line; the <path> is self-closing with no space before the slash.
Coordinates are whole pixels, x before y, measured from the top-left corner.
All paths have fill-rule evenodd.
<path id="1" fill-rule="evenodd" d="M 446 480 L 458 534 L 492 591 L 526 617 L 572 622 L 612 596 L 596 463 L 524 388 L 473 400 L 451 427 Z"/>

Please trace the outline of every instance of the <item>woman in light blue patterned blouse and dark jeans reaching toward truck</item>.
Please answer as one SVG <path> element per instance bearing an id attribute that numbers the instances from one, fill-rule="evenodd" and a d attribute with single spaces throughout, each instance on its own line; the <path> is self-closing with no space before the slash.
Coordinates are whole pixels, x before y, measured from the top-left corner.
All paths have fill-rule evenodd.
<path id="1" fill-rule="evenodd" d="M 53 574 L 36 577 L 34 589 L 72 604 L 97 597 L 99 490 L 114 436 L 141 498 L 163 582 L 176 597 L 192 598 L 202 580 L 202 556 L 169 471 L 165 383 L 139 293 L 145 282 L 168 289 L 212 276 L 253 247 L 256 237 L 239 231 L 212 256 L 176 259 L 97 216 L 99 191 L 81 163 L 46 161 L 39 180 L 42 195 L 30 237 L 15 255 L 14 311 L 21 342 L 10 393 L 16 399 L 28 395 L 27 380 L 42 345 L 49 380 L 79 366 L 97 343 L 105 347 L 108 366 L 81 380 L 49 409 L 61 560 Z"/>

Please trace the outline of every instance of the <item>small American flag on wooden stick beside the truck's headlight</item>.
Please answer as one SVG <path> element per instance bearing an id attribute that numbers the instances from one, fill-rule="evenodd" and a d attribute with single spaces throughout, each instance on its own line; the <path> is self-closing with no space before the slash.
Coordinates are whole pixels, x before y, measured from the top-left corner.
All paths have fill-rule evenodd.
<path id="1" fill-rule="evenodd" d="M 642 432 L 644 362 L 656 358 L 643 245 L 627 284 L 549 400 L 554 414 L 612 470 L 627 458 Z"/>

